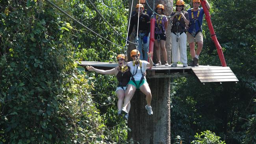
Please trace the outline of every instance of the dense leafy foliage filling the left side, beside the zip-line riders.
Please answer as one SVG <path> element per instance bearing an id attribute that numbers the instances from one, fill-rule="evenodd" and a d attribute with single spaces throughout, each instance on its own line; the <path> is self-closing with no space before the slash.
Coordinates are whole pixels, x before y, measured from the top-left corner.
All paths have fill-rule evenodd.
<path id="1" fill-rule="evenodd" d="M 68 13 L 73 12 L 74 17 L 83 13 L 77 13 L 71 6 L 82 6 L 90 15 L 84 22 L 92 24 L 92 18 L 98 17 L 92 8 L 79 2 L 82 1 L 56 1 L 56 4 Z M 1 1 L 2 6 L 0 143 L 124 142 L 127 135 L 124 122 L 116 129 L 107 129 L 108 121 L 100 116 L 91 95 L 92 79 L 83 68 L 76 70 L 74 63 L 74 58 L 113 61 L 115 52 L 121 49 L 92 39 L 91 33 L 43 1 Z M 119 19 L 122 18 L 127 19 L 121 13 Z M 106 25 L 98 29 L 102 35 L 103 27 Z M 119 30 L 124 29 L 123 26 Z M 115 37 L 107 38 L 121 42 Z M 122 140 L 116 137 L 119 132 Z"/>

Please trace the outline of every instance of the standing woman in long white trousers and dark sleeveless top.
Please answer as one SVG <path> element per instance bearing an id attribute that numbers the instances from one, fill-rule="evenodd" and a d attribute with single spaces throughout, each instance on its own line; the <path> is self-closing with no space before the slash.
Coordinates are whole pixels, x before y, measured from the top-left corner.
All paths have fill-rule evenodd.
<path id="1" fill-rule="evenodd" d="M 176 1 L 176 12 L 171 16 L 171 42 L 172 42 L 172 60 L 171 66 L 177 66 L 177 62 L 181 61 L 184 67 L 187 67 L 187 35 L 186 25 L 189 24 L 188 13 L 184 10 L 185 2 L 183 0 Z M 183 11 L 183 12 L 182 12 Z"/>

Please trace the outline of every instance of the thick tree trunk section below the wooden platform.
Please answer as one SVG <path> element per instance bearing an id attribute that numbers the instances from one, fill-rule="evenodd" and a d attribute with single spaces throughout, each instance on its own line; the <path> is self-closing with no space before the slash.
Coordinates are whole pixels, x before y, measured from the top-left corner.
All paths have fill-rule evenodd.
<path id="1" fill-rule="evenodd" d="M 128 139 L 140 144 L 170 144 L 170 78 L 147 79 L 152 92 L 153 115 L 148 115 L 145 94 L 137 90 L 131 100 Z"/>

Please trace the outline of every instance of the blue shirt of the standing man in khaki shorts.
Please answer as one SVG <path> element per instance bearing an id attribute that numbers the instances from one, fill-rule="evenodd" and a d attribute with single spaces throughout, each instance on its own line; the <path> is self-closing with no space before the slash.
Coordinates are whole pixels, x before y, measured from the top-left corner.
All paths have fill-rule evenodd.
<path id="1" fill-rule="evenodd" d="M 198 11 L 193 11 L 193 16 L 192 18 L 192 9 L 187 10 L 187 13 L 189 15 L 189 29 L 187 30 L 189 33 L 193 33 L 193 30 L 195 29 L 195 32 L 201 31 L 202 32 L 202 22 L 203 22 L 203 16 L 204 16 L 204 10 L 201 7 L 199 9 L 199 16 L 197 17 Z"/>

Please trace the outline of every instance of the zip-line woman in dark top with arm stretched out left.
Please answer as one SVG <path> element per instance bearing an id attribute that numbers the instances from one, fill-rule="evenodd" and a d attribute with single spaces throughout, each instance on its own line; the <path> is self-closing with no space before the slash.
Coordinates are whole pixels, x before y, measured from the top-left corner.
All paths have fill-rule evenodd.
<path id="1" fill-rule="evenodd" d="M 89 71 L 95 71 L 100 74 L 111 74 L 111 75 L 115 75 L 117 77 L 118 86 L 117 86 L 117 89 L 115 90 L 115 92 L 116 92 L 117 98 L 118 98 L 118 102 L 117 102 L 117 108 L 118 108 L 117 114 L 118 115 L 121 115 L 121 109 L 122 109 L 122 104 L 124 101 L 126 85 L 130 81 L 130 78 L 132 76 L 129 68 L 127 68 L 125 70 L 122 69 L 122 66 L 124 65 L 124 59 L 125 59 L 124 54 L 117 55 L 118 66 L 111 70 L 100 70 L 100 69 L 94 68 L 93 66 L 87 66 L 87 69 Z M 127 111 L 130 111 L 130 103 L 128 103 Z M 124 115 L 124 118 L 126 118 L 128 120 L 128 114 Z"/>

